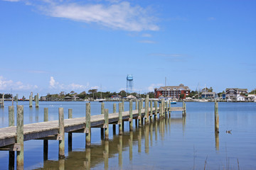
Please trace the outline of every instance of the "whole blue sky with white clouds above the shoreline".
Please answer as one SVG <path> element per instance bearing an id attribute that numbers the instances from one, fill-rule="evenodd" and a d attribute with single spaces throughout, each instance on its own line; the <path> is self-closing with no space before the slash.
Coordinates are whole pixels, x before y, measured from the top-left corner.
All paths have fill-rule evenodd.
<path id="1" fill-rule="evenodd" d="M 0 0 L 0 93 L 255 89 L 256 1 Z"/>

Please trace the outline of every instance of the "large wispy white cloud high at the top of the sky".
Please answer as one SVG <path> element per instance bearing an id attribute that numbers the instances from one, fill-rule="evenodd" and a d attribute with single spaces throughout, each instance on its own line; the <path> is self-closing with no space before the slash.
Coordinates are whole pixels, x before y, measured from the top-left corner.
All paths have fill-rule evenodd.
<path id="1" fill-rule="evenodd" d="M 151 8 L 132 5 L 129 1 L 105 0 L 62 1 L 62 0 L 4 0 L 23 1 L 26 5 L 36 6 L 47 16 L 70 19 L 84 23 L 96 23 L 117 30 L 142 31 L 159 30 Z M 93 4 L 94 3 L 94 4 Z"/>

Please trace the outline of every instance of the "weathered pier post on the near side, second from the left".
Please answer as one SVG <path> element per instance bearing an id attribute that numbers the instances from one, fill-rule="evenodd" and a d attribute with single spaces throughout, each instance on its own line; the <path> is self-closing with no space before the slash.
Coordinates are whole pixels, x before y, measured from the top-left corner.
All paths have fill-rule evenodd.
<path id="1" fill-rule="evenodd" d="M 59 154 L 60 159 L 65 157 L 65 132 L 64 132 L 64 110 L 63 108 L 58 109 L 59 113 L 59 129 L 58 132 L 62 137 L 62 140 L 59 140 Z"/>

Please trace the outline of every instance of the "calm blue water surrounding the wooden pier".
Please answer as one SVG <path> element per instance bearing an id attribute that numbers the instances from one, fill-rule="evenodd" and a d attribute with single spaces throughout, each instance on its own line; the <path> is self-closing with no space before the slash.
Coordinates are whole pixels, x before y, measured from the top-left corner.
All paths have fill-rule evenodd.
<path id="1" fill-rule="evenodd" d="M 73 108 L 73 118 L 85 116 L 85 102 L 40 102 L 38 109 L 24 105 L 24 124 L 43 121 L 43 108 L 49 120 L 58 120 L 58 108 Z M 100 114 L 100 104 L 91 103 L 92 115 Z M 0 109 L 0 128 L 8 126 L 8 106 Z M 112 113 L 113 102 L 105 108 Z M 129 103 L 125 103 L 128 111 Z M 181 106 L 177 103 L 176 106 Z M 117 105 L 118 106 L 118 105 Z M 256 169 L 256 103 L 219 103 L 220 133 L 214 132 L 214 103 L 186 103 L 186 119 L 181 112 L 157 120 L 124 135 L 100 139 L 100 129 L 92 128 L 92 148 L 85 149 L 85 135 L 73 134 L 73 151 L 68 152 L 65 134 L 64 160 L 58 161 L 58 141 L 49 141 L 48 161 L 43 162 L 43 141 L 24 142 L 25 169 Z M 117 108 L 118 111 L 118 108 Z M 225 133 L 232 130 L 232 134 Z M 118 128 L 117 128 L 118 134 Z M 8 169 L 9 152 L 0 152 L 0 169 Z"/>

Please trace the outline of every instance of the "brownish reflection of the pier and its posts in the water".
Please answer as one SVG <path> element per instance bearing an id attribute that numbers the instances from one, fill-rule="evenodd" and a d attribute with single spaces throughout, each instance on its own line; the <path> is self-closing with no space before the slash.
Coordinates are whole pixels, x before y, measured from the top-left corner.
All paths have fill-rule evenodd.
<path id="1" fill-rule="evenodd" d="M 173 119 L 173 120 L 172 120 Z M 47 160 L 44 162 L 43 167 L 40 169 L 49 169 L 56 167 L 58 169 L 90 169 L 102 164 L 102 168 L 110 169 L 112 166 L 117 165 L 109 164 L 109 159 L 112 157 L 118 158 L 119 169 L 122 169 L 123 163 L 127 164 L 123 160 L 123 151 L 129 148 L 126 154 L 129 154 L 129 163 L 132 164 L 133 152 L 142 152 L 142 145 L 144 145 L 144 153 L 149 154 L 150 148 L 153 146 L 153 139 L 158 140 L 158 133 L 160 133 L 161 140 L 164 140 L 164 136 L 171 130 L 171 123 L 182 124 L 185 123 L 182 118 L 168 118 L 156 120 L 154 123 L 149 123 L 142 128 L 137 128 L 131 132 L 124 132 L 124 135 L 113 135 L 112 140 L 102 140 L 101 145 L 92 145 L 90 148 L 86 148 L 84 151 L 71 151 L 68 152 L 68 157 L 65 159 L 59 159 L 58 161 Z M 185 127 L 185 125 L 183 125 Z M 150 136 L 150 137 L 149 137 Z M 142 140 L 144 142 L 142 142 Z M 150 147 L 149 147 L 150 140 Z M 137 145 L 137 151 L 134 150 Z"/>

